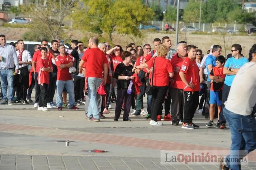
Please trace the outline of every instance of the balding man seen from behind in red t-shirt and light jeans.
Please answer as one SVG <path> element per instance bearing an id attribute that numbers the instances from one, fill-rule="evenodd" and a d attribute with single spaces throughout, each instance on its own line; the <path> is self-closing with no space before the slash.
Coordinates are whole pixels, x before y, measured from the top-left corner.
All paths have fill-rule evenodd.
<path id="1" fill-rule="evenodd" d="M 83 67 L 86 69 L 88 97 L 90 104 L 86 117 L 89 121 L 99 121 L 99 110 L 97 101 L 101 96 L 97 93 L 98 87 L 105 85 L 108 77 L 108 60 L 106 54 L 98 48 L 98 38 L 89 39 L 88 47 L 79 63 L 79 73 L 82 73 Z M 104 77 L 102 78 L 102 71 Z"/>

